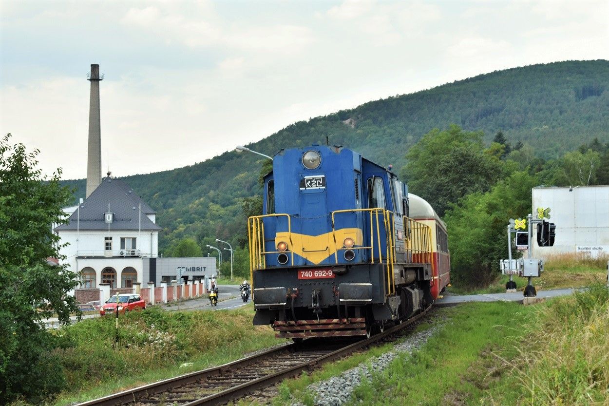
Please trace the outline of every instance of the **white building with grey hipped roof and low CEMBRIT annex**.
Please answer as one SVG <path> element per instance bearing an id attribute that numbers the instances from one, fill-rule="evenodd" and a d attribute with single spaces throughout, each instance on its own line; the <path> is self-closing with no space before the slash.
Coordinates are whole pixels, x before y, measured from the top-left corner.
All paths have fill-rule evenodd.
<path id="1" fill-rule="evenodd" d="M 156 213 L 121 179 L 110 176 L 55 227 L 63 260 L 81 277 L 80 288 L 132 288 L 136 282 L 203 279 L 216 274 L 216 258 L 157 258 Z"/>

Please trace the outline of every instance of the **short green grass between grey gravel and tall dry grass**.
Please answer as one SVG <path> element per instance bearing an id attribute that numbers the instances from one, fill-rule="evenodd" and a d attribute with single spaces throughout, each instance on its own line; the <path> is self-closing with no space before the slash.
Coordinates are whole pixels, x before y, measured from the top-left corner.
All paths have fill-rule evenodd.
<path id="1" fill-rule="evenodd" d="M 385 371 L 355 388 L 351 404 L 479 405 L 501 385 L 501 358 L 516 354 L 534 307 L 508 302 L 442 309 L 449 318 L 412 356 L 401 354 Z"/>

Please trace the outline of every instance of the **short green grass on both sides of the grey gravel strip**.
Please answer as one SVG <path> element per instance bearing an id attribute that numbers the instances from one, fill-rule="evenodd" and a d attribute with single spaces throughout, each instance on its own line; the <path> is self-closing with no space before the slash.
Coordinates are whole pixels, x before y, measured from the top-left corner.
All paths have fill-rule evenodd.
<path id="1" fill-rule="evenodd" d="M 533 307 L 514 303 L 471 303 L 436 310 L 434 318 L 443 323 L 440 331 L 412 359 L 400 356 L 393 361 L 390 373 L 379 374 L 373 382 L 362 382 L 354 393 L 354 404 L 403 404 L 404 391 L 409 392 L 408 395 L 416 394 L 415 388 L 421 385 L 427 386 L 427 391 L 409 397 L 409 404 L 440 405 L 445 401 L 445 393 L 448 398 L 478 399 L 484 388 L 477 388 L 477 377 L 482 380 L 491 364 L 500 365 L 499 358 L 490 357 L 490 360 L 482 361 L 479 355 L 491 355 L 506 344 L 519 340 L 521 329 L 518 327 L 523 326 L 533 312 Z M 429 324 L 421 324 L 417 330 L 428 327 Z M 298 379 L 284 381 L 273 406 L 294 401 L 312 405 L 314 396 L 306 386 L 336 376 L 392 347 L 393 344 L 385 344 L 367 353 L 325 365 L 310 376 L 303 374 Z M 515 354 L 516 351 L 512 352 Z M 427 392 L 432 396 L 429 397 Z"/>

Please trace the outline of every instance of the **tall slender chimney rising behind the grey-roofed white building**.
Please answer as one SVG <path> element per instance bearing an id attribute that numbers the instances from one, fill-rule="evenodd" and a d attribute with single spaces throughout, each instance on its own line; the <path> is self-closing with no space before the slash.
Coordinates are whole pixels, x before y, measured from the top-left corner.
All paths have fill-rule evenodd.
<path id="1" fill-rule="evenodd" d="M 91 82 L 91 96 L 89 100 L 89 148 L 86 160 L 86 197 L 96 190 L 102 181 L 102 135 L 99 118 L 99 65 L 91 64 L 91 73 L 88 75 Z"/>

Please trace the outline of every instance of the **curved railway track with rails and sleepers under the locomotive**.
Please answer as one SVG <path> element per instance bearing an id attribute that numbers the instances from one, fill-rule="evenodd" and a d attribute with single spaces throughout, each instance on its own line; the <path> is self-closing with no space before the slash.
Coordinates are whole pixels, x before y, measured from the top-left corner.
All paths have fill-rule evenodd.
<path id="1" fill-rule="evenodd" d="M 370 344 L 385 342 L 425 316 L 430 308 L 366 340 L 328 343 L 328 340 L 309 339 L 285 344 L 224 365 L 139 386 L 76 406 L 222 405 Z"/>

